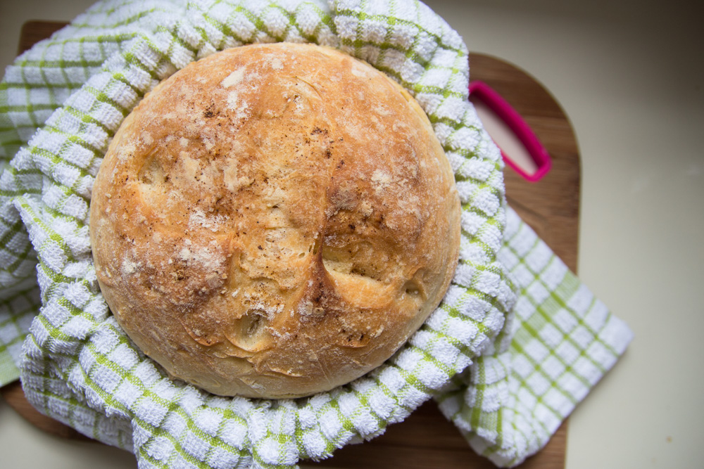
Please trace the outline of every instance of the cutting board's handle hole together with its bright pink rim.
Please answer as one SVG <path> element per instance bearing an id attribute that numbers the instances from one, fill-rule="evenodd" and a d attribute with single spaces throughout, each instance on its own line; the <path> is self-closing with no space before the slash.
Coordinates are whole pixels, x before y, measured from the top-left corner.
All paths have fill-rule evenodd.
<path id="1" fill-rule="evenodd" d="M 536 182 L 551 168 L 550 155 L 509 103 L 484 82 L 470 83 L 470 101 L 503 160 L 523 179 Z"/>

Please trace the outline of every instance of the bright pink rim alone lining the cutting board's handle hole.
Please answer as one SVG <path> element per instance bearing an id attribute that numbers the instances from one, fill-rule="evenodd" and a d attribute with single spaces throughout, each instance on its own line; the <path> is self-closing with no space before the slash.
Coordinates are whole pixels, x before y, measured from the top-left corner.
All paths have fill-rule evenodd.
<path id="1" fill-rule="evenodd" d="M 550 155 L 548 151 L 543 147 L 542 143 L 538 140 L 538 137 L 533 133 L 533 130 L 526 124 L 523 118 L 518 114 L 515 109 L 511 107 L 509 103 L 505 101 L 496 91 L 491 89 L 491 87 L 484 82 L 471 82 L 470 83 L 470 96 L 479 98 L 486 104 L 489 109 L 493 110 L 498 117 L 503 120 L 503 122 L 508 126 L 509 129 L 518 137 L 518 139 L 523 143 L 523 146 L 528 151 L 535 162 L 537 169 L 533 174 L 528 174 L 521 167 L 515 164 L 508 155 L 503 153 L 501 150 L 501 155 L 503 160 L 512 167 L 515 172 L 520 174 L 523 179 L 530 182 L 539 181 L 543 176 L 548 174 L 551 168 Z"/>

